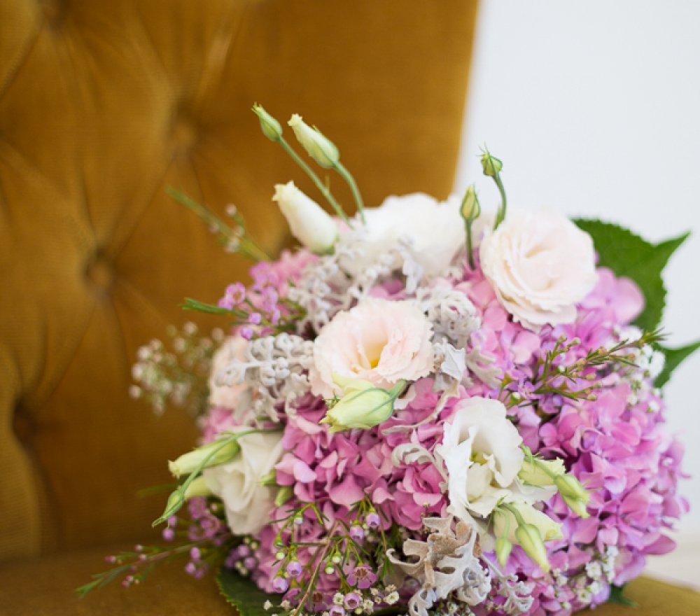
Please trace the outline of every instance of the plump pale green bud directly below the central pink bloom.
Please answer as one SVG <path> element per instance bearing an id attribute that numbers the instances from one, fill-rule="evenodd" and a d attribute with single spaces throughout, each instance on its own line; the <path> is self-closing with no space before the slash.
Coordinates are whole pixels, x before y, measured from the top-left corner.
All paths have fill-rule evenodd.
<path id="1" fill-rule="evenodd" d="M 347 379 L 333 375 L 335 384 L 343 388 L 343 397 L 321 419 L 330 423 L 331 432 L 341 432 L 351 428 L 377 426 L 393 413 L 395 395 L 393 391 L 382 389 L 363 379 Z"/>

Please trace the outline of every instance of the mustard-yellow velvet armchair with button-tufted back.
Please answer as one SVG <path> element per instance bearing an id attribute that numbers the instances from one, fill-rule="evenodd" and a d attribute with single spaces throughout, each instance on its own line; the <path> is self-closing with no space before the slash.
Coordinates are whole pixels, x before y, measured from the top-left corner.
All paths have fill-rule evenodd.
<path id="1" fill-rule="evenodd" d="M 177 566 L 73 594 L 155 540 L 162 499 L 137 491 L 195 442 L 186 414 L 128 397 L 136 349 L 191 318 L 184 295 L 245 276 L 165 190 L 235 203 L 279 248 L 273 183 L 313 188 L 259 101 L 331 135 L 368 203 L 446 196 L 474 20 L 472 0 L 0 2 L 0 614 L 230 612 Z"/>

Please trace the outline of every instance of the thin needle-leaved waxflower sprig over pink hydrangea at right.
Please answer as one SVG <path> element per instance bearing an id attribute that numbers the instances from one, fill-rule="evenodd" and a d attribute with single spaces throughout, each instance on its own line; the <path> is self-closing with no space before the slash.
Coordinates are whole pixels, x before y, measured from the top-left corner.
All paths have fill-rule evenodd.
<path id="1" fill-rule="evenodd" d="M 599 346 L 590 349 L 573 363 L 565 363 L 566 354 L 581 344 L 580 339 L 568 340 L 561 335 L 554 347 L 538 358 L 533 368 L 533 377 L 518 381 L 506 374 L 498 399 L 507 408 L 537 405 L 542 395 L 560 395 L 568 400 L 597 399 L 596 391 L 601 387 L 598 381 L 601 372 L 610 372 L 615 367 L 636 367 L 636 355 L 631 352 L 645 346 L 657 344 L 663 336 L 659 330 L 645 332 L 638 339 L 624 339 L 606 348 Z"/>

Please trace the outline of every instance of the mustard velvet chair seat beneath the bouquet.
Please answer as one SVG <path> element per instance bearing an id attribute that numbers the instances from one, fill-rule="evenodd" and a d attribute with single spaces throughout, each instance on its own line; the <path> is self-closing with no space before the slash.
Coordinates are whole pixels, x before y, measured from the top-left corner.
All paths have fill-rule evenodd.
<path id="1" fill-rule="evenodd" d="M 119 549 L 99 548 L 0 566 L 0 612 L 8 616 L 231 616 L 212 577 L 195 580 L 183 564 L 155 570 L 144 584 L 123 589 L 118 582 L 78 599 L 74 589 L 103 568 L 104 555 Z M 638 609 L 601 605 L 592 616 L 697 616 L 700 594 L 641 577 L 629 584 L 626 596 Z"/>

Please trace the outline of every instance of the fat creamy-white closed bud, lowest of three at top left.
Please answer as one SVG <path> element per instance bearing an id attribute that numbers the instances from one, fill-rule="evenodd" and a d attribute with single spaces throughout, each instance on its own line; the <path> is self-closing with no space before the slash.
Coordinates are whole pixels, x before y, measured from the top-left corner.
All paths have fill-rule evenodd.
<path id="1" fill-rule="evenodd" d="M 273 201 L 289 223 L 292 235 L 316 254 L 328 253 L 338 239 L 338 227 L 320 205 L 304 195 L 294 182 L 276 184 Z"/>

